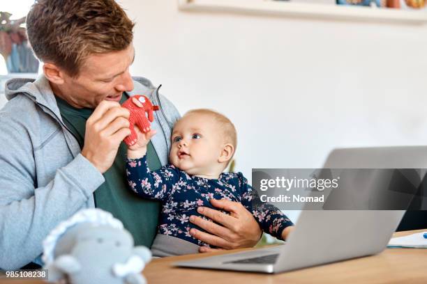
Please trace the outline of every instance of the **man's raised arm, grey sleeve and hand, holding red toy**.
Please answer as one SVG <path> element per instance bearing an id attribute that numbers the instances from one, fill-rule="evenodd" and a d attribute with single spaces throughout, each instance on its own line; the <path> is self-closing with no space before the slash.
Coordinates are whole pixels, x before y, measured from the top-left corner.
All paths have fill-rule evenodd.
<path id="1" fill-rule="evenodd" d="M 84 207 L 104 182 L 101 173 L 112 165 L 119 144 L 130 134 L 128 116 L 128 110 L 117 102 L 101 102 L 87 121 L 82 154 L 57 169 L 51 182 L 38 187 L 34 154 L 43 145 L 32 144 L 25 128 L 28 125 L 15 113 L 1 113 L 2 269 L 17 269 L 34 260 L 42 252 L 43 239 L 50 230 Z"/>

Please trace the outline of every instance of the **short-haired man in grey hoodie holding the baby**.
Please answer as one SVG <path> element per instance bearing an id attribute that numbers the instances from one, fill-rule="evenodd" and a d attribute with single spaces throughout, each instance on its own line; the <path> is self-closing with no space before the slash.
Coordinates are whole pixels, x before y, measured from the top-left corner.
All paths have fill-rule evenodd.
<path id="1" fill-rule="evenodd" d="M 122 141 L 130 134 L 129 112 L 120 103 L 140 93 L 160 105 L 152 124 L 158 135 L 147 150 L 153 170 L 167 163 L 179 113 L 149 80 L 130 77 L 133 23 L 113 0 L 39 0 L 27 16 L 27 33 L 43 74 L 6 84 L 9 102 L 0 112 L 0 267 L 41 264 L 48 232 L 88 207 L 112 212 L 136 244 L 151 246 L 159 205 L 126 188 Z M 260 228 L 242 205 L 211 203 L 232 214 L 200 207 L 216 223 L 191 216 L 194 237 L 226 249 L 257 242 Z"/>

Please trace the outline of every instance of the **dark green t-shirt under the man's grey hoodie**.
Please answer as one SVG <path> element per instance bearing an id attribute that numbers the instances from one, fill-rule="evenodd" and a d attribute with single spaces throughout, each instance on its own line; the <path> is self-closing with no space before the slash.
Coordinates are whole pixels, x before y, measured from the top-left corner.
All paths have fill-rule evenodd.
<path id="1" fill-rule="evenodd" d="M 93 113 L 93 109 L 76 109 L 61 98 L 55 97 L 63 122 L 77 138 L 80 148 L 83 148 L 86 121 Z M 123 94 L 120 103 L 127 98 Z M 150 169 L 157 170 L 161 167 L 151 142 L 147 146 L 147 160 Z M 150 247 L 157 232 L 160 203 L 140 198 L 128 189 L 125 163 L 126 144 L 122 142 L 114 163 L 103 174 L 105 182 L 93 193 L 95 207 L 111 212 L 115 218 L 123 222 L 123 226 L 132 234 L 135 245 Z"/>

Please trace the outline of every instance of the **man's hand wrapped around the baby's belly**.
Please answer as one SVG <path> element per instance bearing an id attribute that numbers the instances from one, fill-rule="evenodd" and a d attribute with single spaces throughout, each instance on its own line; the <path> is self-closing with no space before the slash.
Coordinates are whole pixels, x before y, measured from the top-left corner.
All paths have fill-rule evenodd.
<path id="1" fill-rule="evenodd" d="M 257 244 L 262 231 L 257 221 L 253 218 L 253 215 L 241 203 L 226 199 L 211 199 L 211 204 L 214 207 L 230 212 L 231 215 L 209 207 L 198 207 L 197 212 L 223 226 L 192 215 L 190 216 L 190 222 L 207 230 L 207 232 L 193 228 L 190 230 L 190 235 L 196 239 L 200 239 L 202 242 L 223 249 L 248 248 Z M 199 251 L 206 253 L 216 250 L 218 249 L 202 246 Z"/>

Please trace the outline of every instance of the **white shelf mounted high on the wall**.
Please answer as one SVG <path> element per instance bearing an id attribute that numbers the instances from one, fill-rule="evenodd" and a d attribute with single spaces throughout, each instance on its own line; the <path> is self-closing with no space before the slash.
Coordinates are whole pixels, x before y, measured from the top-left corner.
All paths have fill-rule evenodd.
<path id="1" fill-rule="evenodd" d="M 426 9 L 400 10 L 265 0 L 178 0 L 178 3 L 179 9 L 185 11 L 244 13 L 393 24 L 427 23 Z"/>

